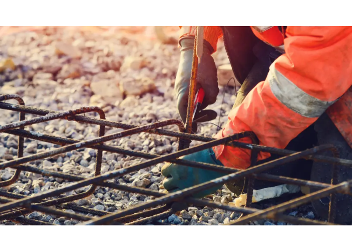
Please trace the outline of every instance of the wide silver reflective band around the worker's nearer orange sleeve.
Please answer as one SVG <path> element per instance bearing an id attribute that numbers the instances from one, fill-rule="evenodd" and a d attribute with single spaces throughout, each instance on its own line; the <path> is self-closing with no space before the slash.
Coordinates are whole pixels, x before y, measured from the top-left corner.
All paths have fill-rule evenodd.
<path id="1" fill-rule="evenodd" d="M 272 92 L 280 102 L 305 117 L 319 117 L 338 100 L 327 102 L 310 96 L 276 70 L 274 64 L 270 67 L 268 79 Z"/>

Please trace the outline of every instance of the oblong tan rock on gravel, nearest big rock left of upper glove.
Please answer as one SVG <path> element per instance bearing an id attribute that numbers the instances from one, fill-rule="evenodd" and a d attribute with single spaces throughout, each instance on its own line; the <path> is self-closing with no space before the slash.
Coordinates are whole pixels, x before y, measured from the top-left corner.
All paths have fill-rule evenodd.
<path id="1" fill-rule="evenodd" d="M 154 81 L 150 78 L 125 79 L 120 82 L 120 89 L 126 95 L 142 95 L 155 90 Z"/>

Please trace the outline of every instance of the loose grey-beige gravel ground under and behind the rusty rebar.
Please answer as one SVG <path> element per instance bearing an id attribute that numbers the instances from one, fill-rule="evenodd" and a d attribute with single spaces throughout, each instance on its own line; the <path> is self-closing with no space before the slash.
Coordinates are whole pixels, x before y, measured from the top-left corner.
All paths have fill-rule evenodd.
<path id="1" fill-rule="evenodd" d="M 15 67 L 2 69 L 0 64 L 0 94 L 17 93 L 23 96 L 28 106 L 65 111 L 98 105 L 106 112 L 107 119 L 136 125 L 179 118 L 173 92 L 174 78 L 179 64 L 177 45 L 135 39 L 121 33 L 48 29 L 43 32 L 25 32 L 2 37 L 0 62 L 9 58 L 12 58 Z M 215 61 L 217 65 L 227 63 L 226 53 L 221 44 L 215 55 Z M 210 107 L 221 114 L 220 126 L 223 126 L 227 120 L 226 114 L 235 100 L 235 90 L 233 87 L 228 87 L 224 103 L 221 104 L 223 94 L 224 89 L 221 87 L 219 94 L 221 98 L 218 98 L 218 101 Z M 7 102 L 16 103 L 12 100 Z M 94 113 L 85 115 L 97 116 Z M 34 116 L 26 115 L 26 118 L 32 117 Z M 2 110 L 0 124 L 17 120 L 17 112 Z M 217 120 L 212 122 L 218 124 Z M 175 131 L 177 127 L 170 126 L 164 129 Z M 74 121 L 53 120 L 28 126 L 26 130 L 76 140 L 89 140 L 98 136 L 99 128 Z M 119 131 L 122 130 L 107 128 L 106 135 Z M 199 126 L 198 134 L 213 137 L 216 131 L 217 127 L 213 124 L 205 124 Z M 192 145 L 195 144 L 197 143 L 192 143 Z M 106 145 L 162 155 L 176 151 L 177 139 L 141 133 Z M 57 147 L 53 144 L 26 139 L 25 156 Z M 17 137 L 3 134 L 0 138 L 0 162 L 16 159 L 16 156 Z M 44 161 L 34 161 L 29 165 L 92 177 L 95 156 L 96 151 L 82 149 Z M 141 161 L 143 160 L 139 158 L 104 152 L 102 173 L 128 167 Z M 115 182 L 165 192 L 162 186 L 161 167 L 162 164 L 159 164 L 142 169 L 120 177 Z M 0 180 L 10 179 L 13 173 L 13 169 L 0 170 Z M 22 172 L 15 184 L 2 189 L 31 195 L 60 188 L 69 183 L 58 178 Z M 87 189 L 88 187 L 77 189 L 65 195 L 80 193 Z M 233 194 L 224 187 L 210 198 L 222 203 L 229 203 L 234 199 Z M 151 199 L 153 198 L 145 195 L 99 188 L 94 195 L 74 203 L 87 208 L 116 212 Z M 269 200 L 255 206 L 266 208 L 278 201 Z M 315 218 L 310 206 L 288 213 L 296 217 Z M 230 211 L 189 207 L 161 222 L 175 225 L 223 225 L 238 216 Z M 55 218 L 39 212 L 32 212 L 26 217 L 59 225 L 78 223 L 75 220 Z M 14 224 L 11 221 L 0 221 L 0 225 Z M 286 223 L 261 220 L 251 222 L 251 225 L 286 225 Z"/>

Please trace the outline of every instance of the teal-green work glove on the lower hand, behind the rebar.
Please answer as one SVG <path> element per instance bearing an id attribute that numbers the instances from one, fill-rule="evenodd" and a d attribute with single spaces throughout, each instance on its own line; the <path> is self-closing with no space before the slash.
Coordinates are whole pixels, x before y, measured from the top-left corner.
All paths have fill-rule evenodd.
<path id="1" fill-rule="evenodd" d="M 180 159 L 223 166 L 222 163 L 216 159 L 213 149 L 207 149 L 198 153 L 186 155 Z M 186 167 L 177 164 L 164 165 L 161 169 L 161 173 L 165 177 L 162 184 L 169 192 L 183 190 L 185 188 L 189 188 L 226 175 L 225 173 Z M 221 187 L 222 184 L 194 194 L 193 196 L 202 198 L 209 194 L 215 193 L 215 191 Z"/>

